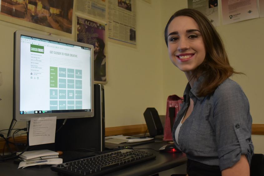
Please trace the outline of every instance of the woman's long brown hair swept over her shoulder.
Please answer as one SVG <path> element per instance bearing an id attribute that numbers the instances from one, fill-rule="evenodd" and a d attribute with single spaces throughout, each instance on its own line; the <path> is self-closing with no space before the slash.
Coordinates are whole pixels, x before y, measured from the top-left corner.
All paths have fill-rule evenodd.
<path id="1" fill-rule="evenodd" d="M 174 13 L 169 19 L 164 37 L 166 45 L 168 46 L 168 26 L 171 21 L 178 16 L 187 16 L 193 18 L 199 26 L 202 34 L 203 43 L 205 45 L 206 56 L 201 65 L 193 70 L 192 78 L 198 74 L 204 76 L 204 81 L 198 91 L 198 96 L 206 96 L 215 91 L 224 80 L 232 76 L 232 74 L 243 74 L 236 72 L 229 64 L 227 53 L 225 51 L 222 39 L 217 33 L 212 23 L 201 12 L 194 9 L 181 9 Z"/>

